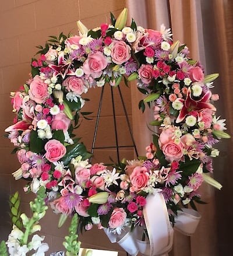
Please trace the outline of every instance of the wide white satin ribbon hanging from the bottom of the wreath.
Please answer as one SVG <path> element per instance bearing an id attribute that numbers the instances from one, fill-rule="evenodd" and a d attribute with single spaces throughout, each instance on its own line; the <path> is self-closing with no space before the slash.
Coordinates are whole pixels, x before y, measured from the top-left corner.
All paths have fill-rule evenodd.
<path id="1" fill-rule="evenodd" d="M 136 256 L 139 252 L 145 256 L 166 256 L 172 249 L 173 229 L 164 197 L 161 193 L 154 192 L 146 201 L 143 215 L 149 239 L 142 241 L 142 227 L 136 227 L 133 233 L 129 229 L 125 230 L 121 235 L 112 233 L 111 229 L 104 231 L 112 243 L 118 243 L 131 256 Z M 174 229 L 190 236 L 195 232 L 199 220 L 198 212 L 183 208 L 178 211 Z"/>

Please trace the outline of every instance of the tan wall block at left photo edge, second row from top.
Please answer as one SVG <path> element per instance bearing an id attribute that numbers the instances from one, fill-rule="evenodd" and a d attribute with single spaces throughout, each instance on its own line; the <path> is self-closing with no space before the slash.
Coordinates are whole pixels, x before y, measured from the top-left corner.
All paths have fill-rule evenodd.
<path id="1" fill-rule="evenodd" d="M 10 38 L 0 41 L 0 66 L 19 64 L 18 38 Z"/>

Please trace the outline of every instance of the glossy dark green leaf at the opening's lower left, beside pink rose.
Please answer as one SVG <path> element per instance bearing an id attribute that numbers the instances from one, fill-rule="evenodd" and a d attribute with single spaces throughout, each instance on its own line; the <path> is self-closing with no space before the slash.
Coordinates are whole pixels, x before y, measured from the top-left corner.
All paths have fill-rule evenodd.
<path id="1" fill-rule="evenodd" d="M 66 155 L 62 157 L 61 161 L 63 161 L 64 165 L 68 165 L 72 158 L 77 156 L 86 157 L 87 150 L 83 143 L 75 143 L 73 145 L 69 145 L 66 147 Z"/>

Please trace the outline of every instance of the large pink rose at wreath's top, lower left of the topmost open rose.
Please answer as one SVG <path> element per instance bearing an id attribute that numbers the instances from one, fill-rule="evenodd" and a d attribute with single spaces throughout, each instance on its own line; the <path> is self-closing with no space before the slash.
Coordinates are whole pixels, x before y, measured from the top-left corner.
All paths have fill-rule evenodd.
<path id="1" fill-rule="evenodd" d="M 83 71 L 86 75 L 91 75 L 93 78 L 99 78 L 107 65 L 107 58 L 102 52 L 98 51 L 88 55 L 83 64 Z"/>

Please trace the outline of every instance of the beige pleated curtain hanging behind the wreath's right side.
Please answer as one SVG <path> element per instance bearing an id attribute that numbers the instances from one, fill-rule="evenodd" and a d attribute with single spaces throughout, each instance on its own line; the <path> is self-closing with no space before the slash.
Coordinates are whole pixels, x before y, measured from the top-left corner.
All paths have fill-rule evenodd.
<path id="1" fill-rule="evenodd" d="M 233 3 L 225 0 L 126 0 L 129 18 L 137 24 L 150 29 L 160 29 L 162 23 L 172 28 L 173 39 L 186 43 L 193 59 L 199 60 L 206 73 L 220 73 L 221 79 L 216 82 L 214 93 L 220 94 L 217 103 L 218 115 L 228 118 L 228 131 L 232 131 L 232 25 Z M 224 90 L 223 90 L 224 89 Z M 139 153 L 151 141 L 151 132 L 145 125 L 153 119 L 151 110 L 139 113 L 137 104 L 142 95 L 136 86 L 131 86 L 133 132 Z M 224 111 L 225 110 L 225 111 Z M 225 113 L 224 113 L 225 112 Z M 175 232 L 172 256 L 214 256 L 230 255 L 230 239 L 227 236 L 231 221 L 231 209 L 225 209 L 224 202 L 230 199 L 230 181 L 232 177 L 227 162 L 232 152 L 230 143 L 222 142 L 218 148 L 222 155 L 214 164 L 214 176 L 224 185 L 221 192 L 215 192 L 209 185 L 202 186 L 202 199 L 207 205 L 199 205 L 202 215 L 196 233 L 192 237 Z M 231 157 L 232 158 L 232 157 Z M 230 160 L 232 161 L 232 160 Z M 224 168 L 225 167 L 225 168 Z M 232 179 L 231 179 L 232 180 Z M 215 200 L 217 198 L 217 200 Z M 227 199 L 228 198 L 228 199 Z M 229 204 L 229 202 L 228 202 Z M 220 209 L 219 209 L 220 207 Z M 227 214 L 226 214 L 227 213 Z M 226 220 L 227 217 L 228 219 Z M 227 254 L 228 253 L 228 254 Z"/>

